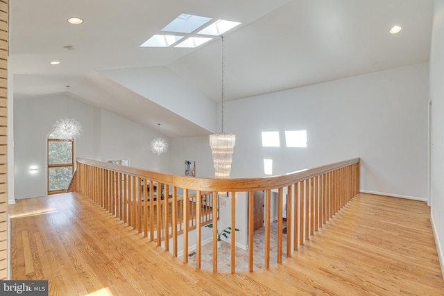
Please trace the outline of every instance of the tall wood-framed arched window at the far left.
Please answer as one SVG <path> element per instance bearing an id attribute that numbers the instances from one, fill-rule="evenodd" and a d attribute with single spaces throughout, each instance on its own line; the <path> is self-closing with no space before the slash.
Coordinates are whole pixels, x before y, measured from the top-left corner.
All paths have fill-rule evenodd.
<path id="1" fill-rule="evenodd" d="M 74 141 L 48 137 L 48 194 L 65 193 L 74 171 Z"/>

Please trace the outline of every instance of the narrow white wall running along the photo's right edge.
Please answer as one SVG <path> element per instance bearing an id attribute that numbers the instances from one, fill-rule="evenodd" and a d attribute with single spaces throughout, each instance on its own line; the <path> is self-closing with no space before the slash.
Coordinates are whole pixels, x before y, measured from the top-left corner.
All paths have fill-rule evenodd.
<path id="1" fill-rule="evenodd" d="M 432 225 L 441 270 L 444 271 L 444 0 L 434 2 L 430 51 L 430 98 L 432 100 Z"/>

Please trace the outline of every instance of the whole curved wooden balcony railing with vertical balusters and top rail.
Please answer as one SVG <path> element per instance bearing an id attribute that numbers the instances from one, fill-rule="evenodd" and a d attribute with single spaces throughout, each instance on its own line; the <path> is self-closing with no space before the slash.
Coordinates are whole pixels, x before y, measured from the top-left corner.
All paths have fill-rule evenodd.
<path id="1" fill-rule="evenodd" d="M 217 272 L 219 194 L 229 193 L 232 229 L 236 212 L 245 211 L 248 234 L 253 234 L 253 194 L 265 192 L 264 266 L 270 267 L 271 193 L 277 192 L 277 263 L 282 262 L 284 193 L 287 202 L 287 247 L 284 255 L 304 245 L 341 207 L 359 193 L 359 158 L 287 175 L 242 179 L 211 179 L 158 173 L 117 164 L 78 159 L 68 191 L 78 191 L 113 216 L 128 223 L 149 241 L 178 256 L 182 234 L 183 261 L 188 262 L 189 232 L 196 232 L 196 268 L 201 268 L 202 227 L 213 223 L 213 271 Z M 146 189 L 146 190 L 145 190 Z M 219 193 L 219 194 L 218 194 Z M 246 193 L 246 195 L 243 195 Z M 160 198 L 159 198 L 160 195 Z M 247 209 L 236 208 L 237 195 L 248 199 Z M 168 198 L 166 198 L 168 197 Z M 187 202 L 184 202 L 187 200 Z M 157 211 L 157 209 L 160 209 Z M 213 219 L 213 217 L 216 217 Z M 231 272 L 236 271 L 236 232 L 231 232 Z M 167 239 L 169 238 L 169 239 Z M 248 236 L 248 270 L 253 271 L 253 235 Z"/>

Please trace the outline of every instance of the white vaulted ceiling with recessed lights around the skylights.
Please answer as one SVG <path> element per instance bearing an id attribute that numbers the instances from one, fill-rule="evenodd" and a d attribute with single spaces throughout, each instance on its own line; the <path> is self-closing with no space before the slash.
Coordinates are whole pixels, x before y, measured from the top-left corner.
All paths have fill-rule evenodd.
<path id="1" fill-rule="evenodd" d="M 425 62 L 432 8 L 432 0 L 10 1 L 8 69 L 15 98 L 66 92 L 71 85 L 76 99 L 128 116 L 153 103 L 130 90 L 110 92 L 112 81 L 91 79 L 97 72 L 166 66 L 220 101 L 219 37 L 198 49 L 139 47 L 181 13 L 241 21 L 225 36 L 224 91 L 234 100 Z M 69 17 L 84 22 L 74 26 Z M 388 33 L 393 24 L 402 26 L 397 35 Z M 51 66 L 51 60 L 62 63 Z M 128 96 L 135 97 L 123 114 L 121 100 Z M 153 121 L 141 123 L 157 128 L 162 120 L 170 137 L 209 133 L 162 107 L 151 109 L 157 110 Z"/>

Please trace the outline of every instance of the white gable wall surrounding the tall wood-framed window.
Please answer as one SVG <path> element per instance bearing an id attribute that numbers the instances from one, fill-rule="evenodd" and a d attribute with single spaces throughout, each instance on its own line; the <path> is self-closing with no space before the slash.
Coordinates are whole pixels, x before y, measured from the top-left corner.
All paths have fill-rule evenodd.
<path id="1" fill-rule="evenodd" d="M 69 116 L 80 121 L 82 140 L 75 141 L 74 153 L 92 157 L 93 112 L 93 107 L 64 94 L 14 101 L 14 184 L 10 186 L 15 199 L 46 195 L 46 137 L 58 119 Z M 30 166 L 37 166 L 37 173 L 31 174 Z"/>

